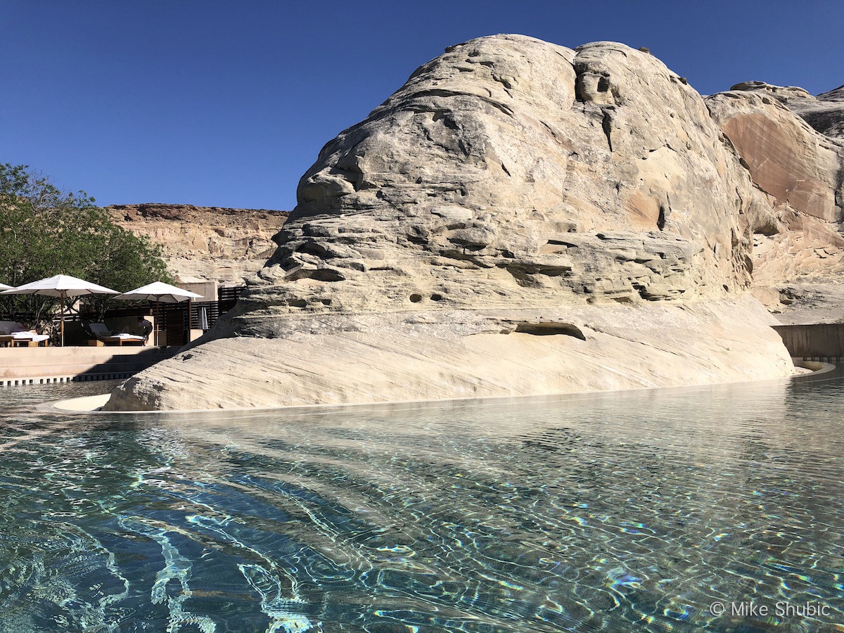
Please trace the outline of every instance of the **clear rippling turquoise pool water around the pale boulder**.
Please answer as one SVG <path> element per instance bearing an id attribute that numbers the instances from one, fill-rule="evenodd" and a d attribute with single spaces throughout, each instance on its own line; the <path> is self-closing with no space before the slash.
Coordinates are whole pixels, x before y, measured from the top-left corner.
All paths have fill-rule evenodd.
<path id="1" fill-rule="evenodd" d="M 0 631 L 841 630 L 842 381 L 170 416 L 0 389 Z"/>

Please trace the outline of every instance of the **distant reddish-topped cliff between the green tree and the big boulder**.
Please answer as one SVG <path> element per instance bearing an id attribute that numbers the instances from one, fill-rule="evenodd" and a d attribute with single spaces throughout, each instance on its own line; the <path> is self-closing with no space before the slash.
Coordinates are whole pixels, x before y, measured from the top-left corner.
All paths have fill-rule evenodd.
<path id="1" fill-rule="evenodd" d="M 116 223 L 164 247 L 176 279 L 241 284 L 273 254 L 288 212 L 192 204 L 116 204 Z"/>

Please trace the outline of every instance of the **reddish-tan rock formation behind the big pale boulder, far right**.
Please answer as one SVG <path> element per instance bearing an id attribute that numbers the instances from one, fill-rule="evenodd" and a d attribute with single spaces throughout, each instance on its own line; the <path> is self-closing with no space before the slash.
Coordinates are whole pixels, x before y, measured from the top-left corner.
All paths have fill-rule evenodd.
<path id="1" fill-rule="evenodd" d="M 840 303 L 841 292 L 828 287 L 844 273 L 844 140 L 836 138 L 844 103 L 836 94 L 841 89 L 815 99 L 799 88 L 745 82 L 706 98 L 773 211 L 775 221 L 755 235 L 753 259 L 754 284 L 774 290 L 767 295 L 774 308 L 782 309 L 779 297 L 801 308 L 822 306 L 823 295 Z M 795 317 L 811 321 L 813 313 Z"/>

